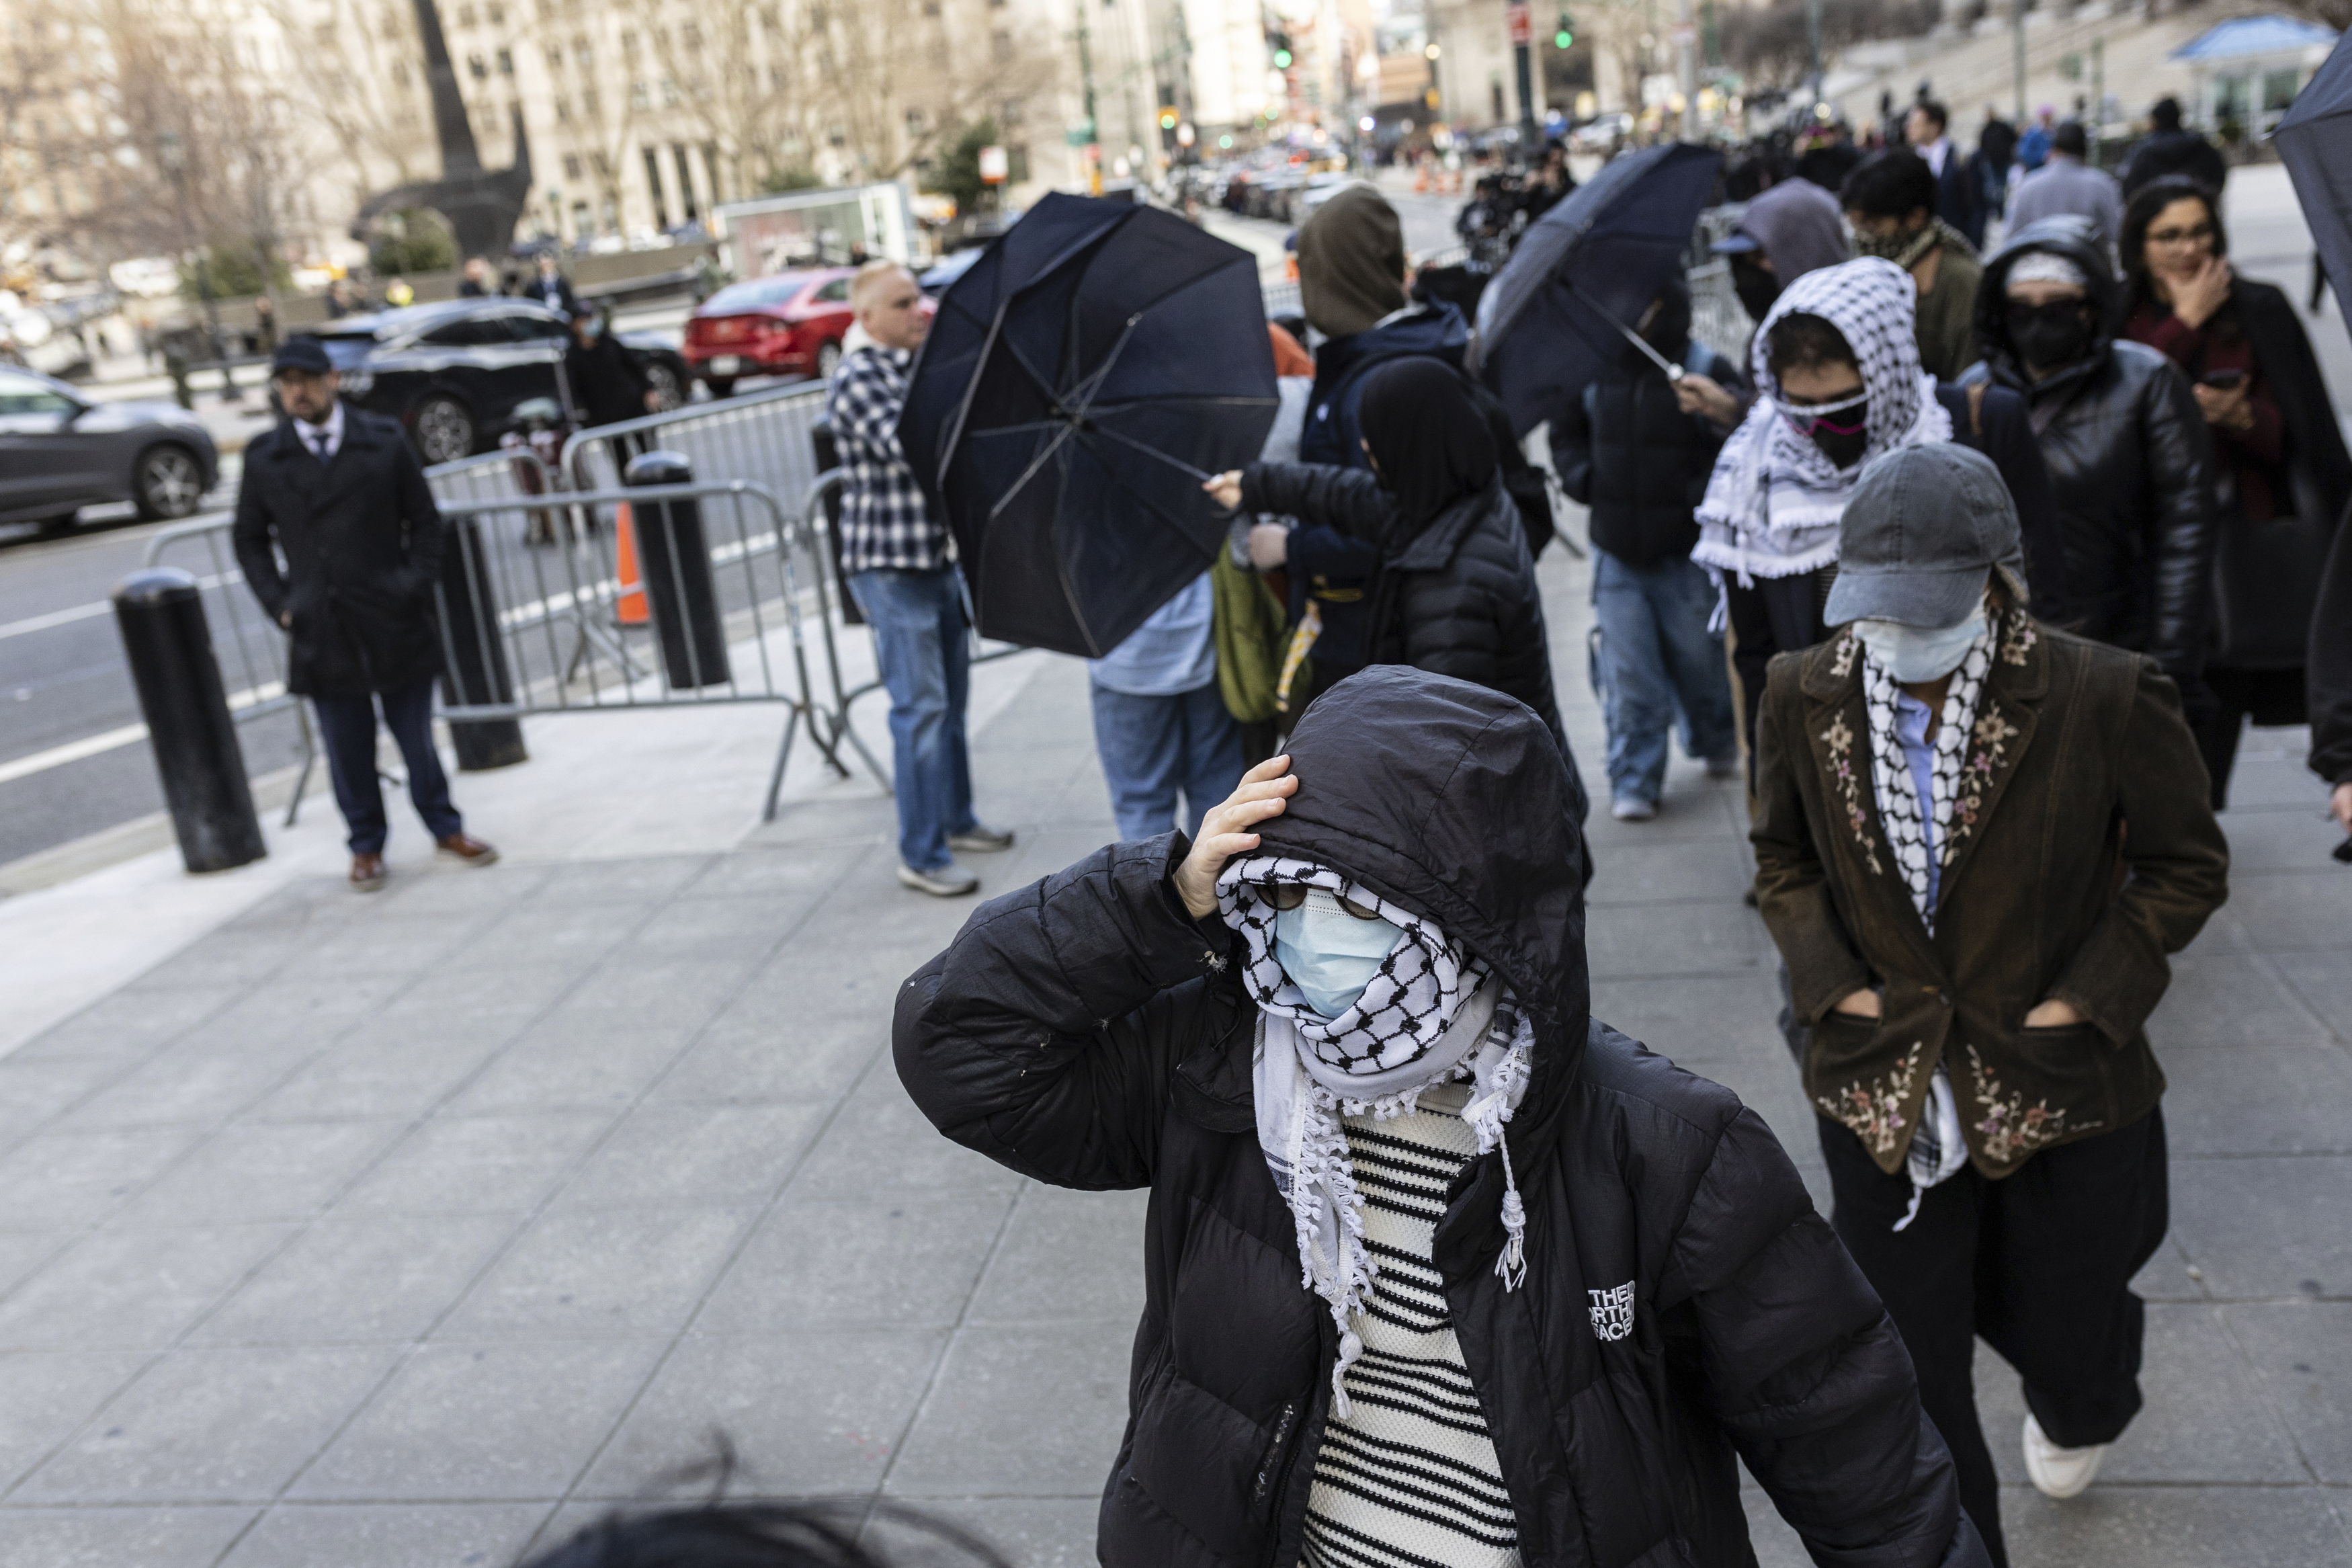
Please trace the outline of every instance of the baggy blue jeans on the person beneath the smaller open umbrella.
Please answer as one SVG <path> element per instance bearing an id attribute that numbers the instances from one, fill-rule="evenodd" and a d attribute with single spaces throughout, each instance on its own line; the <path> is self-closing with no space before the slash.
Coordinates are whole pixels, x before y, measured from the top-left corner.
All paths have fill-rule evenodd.
<path id="1" fill-rule="evenodd" d="M 1708 635 L 1715 588 L 1691 559 L 1628 567 L 1592 550 L 1599 651 L 1592 686 L 1609 719 L 1609 792 L 1658 804 L 1665 733 L 1682 715 L 1682 750 L 1719 759 L 1738 750 L 1724 639 Z"/>

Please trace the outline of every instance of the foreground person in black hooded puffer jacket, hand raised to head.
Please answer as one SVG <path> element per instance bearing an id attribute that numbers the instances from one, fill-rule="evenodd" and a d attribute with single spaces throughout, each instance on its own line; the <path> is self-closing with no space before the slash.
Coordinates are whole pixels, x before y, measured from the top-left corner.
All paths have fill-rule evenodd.
<path id="1" fill-rule="evenodd" d="M 1571 788 L 1524 703 L 1364 670 L 898 990 L 948 1138 L 1152 1192 L 1110 1568 L 1752 1563 L 1736 1460 L 1818 1561 L 1987 1563 L 1771 1131 L 1590 1016 Z"/>

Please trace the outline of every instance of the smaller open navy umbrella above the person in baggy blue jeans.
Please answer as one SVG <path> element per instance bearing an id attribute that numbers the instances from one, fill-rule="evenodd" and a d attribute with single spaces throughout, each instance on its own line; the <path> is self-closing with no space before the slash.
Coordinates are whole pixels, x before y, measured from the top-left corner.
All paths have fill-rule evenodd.
<path id="1" fill-rule="evenodd" d="M 1668 141 L 1625 153 L 1519 235 L 1477 306 L 1470 369 L 1526 435 L 1592 383 L 1691 249 L 1722 155 Z"/>

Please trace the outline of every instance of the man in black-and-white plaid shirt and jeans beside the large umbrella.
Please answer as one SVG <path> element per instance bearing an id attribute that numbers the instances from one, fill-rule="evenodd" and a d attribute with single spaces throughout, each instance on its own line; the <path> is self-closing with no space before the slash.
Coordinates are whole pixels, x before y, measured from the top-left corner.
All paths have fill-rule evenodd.
<path id="1" fill-rule="evenodd" d="M 894 261 L 866 263 L 849 284 L 849 306 L 873 341 L 842 357 L 826 397 L 842 456 L 842 576 L 875 628 L 889 689 L 898 882 L 953 898 L 981 886 L 953 851 L 1009 849 L 1014 835 L 971 816 L 964 578 L 898 447 L 908 369 L 931 317 L 915 277 Z"/>

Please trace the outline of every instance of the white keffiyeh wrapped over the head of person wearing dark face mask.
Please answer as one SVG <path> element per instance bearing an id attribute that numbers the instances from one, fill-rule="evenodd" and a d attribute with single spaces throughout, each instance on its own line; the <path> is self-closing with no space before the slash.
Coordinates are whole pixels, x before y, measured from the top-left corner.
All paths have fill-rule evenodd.
<path id="1" fill-rule="evenodd" d="M 1740 585 L 1818 571 L 1837 559 L 1837 522 L 1872 458 L 1952 440 L 1952 414 L 1936 400 L 1936 378 L 1919 369 L 1917 313 L 1910 273 L 1877 256 L 1818 268 L 1780 292 L 1755 336 L 1757 400 L 1715 458 L 1698 503 L 1693 562 Z M 1785 315 L 1818 315 L 1853 348 L 1870 397 L 1870 444 L 1853 468 L 1832 465 L 1778 409 L 1769 334 Z"/>

